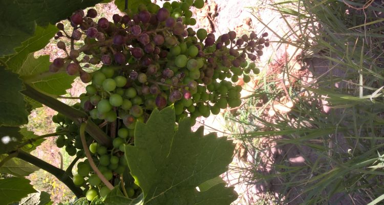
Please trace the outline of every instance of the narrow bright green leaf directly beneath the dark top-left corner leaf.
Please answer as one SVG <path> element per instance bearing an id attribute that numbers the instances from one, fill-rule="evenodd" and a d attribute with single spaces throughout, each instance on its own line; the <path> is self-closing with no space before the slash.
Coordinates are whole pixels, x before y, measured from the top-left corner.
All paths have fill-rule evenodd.
<path id="1" fill-rule="evenodd" d="M 23 42 L 22 47 L 15 49 L 15 54 L 5 56 L 2 58 L 2 61 L 7 65 L 8 69 L 12 69 L 13 72 L 20 74 L 19 70 L 22 69 L 28 54 L 44 48 L 57 31 L 58 29 L 52 25 L 48 25 L 46 28 L 37 26 L 34 36 Z"/>

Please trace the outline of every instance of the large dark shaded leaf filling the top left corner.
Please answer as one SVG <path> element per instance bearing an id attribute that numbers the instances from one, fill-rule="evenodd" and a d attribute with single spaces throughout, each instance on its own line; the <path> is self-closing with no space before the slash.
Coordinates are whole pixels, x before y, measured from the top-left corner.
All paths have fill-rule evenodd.
<path id="1" fill-rule="evenodd" d="M 99 2 L 101 0 L 0 1 L 0 57 L 13 54 L 16 47 L 35 33 L 36 25 L 54 25 L 73 11 Z"/>

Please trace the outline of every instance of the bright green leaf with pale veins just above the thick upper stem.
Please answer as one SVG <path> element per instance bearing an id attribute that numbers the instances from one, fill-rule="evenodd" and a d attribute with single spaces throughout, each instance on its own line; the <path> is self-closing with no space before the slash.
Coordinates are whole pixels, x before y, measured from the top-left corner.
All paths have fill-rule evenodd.
<path id="1" fill-rule="evenodd" d="M 53 95 L 66 94 L 66 90 L 71 88 L 71 84 L 76 76 L 68 75 L 66 72 L 49 72 L 49 55 L 42 55 L 38 58 L 30 53 L 24 61 L 22 67 L 17 70 L 17 73 L 27 83 Z"/>

